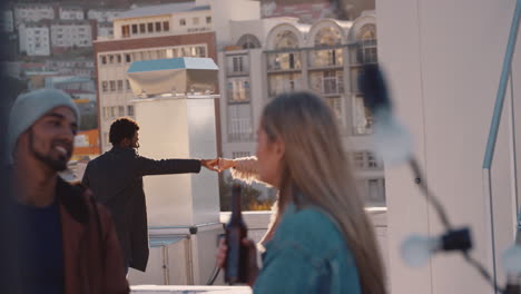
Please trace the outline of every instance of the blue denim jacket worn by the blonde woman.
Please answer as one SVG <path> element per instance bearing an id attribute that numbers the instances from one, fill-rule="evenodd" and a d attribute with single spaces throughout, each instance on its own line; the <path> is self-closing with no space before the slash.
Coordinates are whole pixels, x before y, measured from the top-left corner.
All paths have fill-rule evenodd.
<path id="1" fill-rule="evenodd" d="M 288 205 L 265 247 L 254 293 L 362 292 L 354 256 L 340 227 L 317 207 Z"/>

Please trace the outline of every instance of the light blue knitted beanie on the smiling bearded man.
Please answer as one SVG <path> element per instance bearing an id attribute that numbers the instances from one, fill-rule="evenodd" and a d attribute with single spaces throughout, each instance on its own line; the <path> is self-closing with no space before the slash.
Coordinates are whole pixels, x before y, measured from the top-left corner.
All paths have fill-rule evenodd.
<path id="1" fill-rule="evenodd" d="M 18 96 L 9 114 L 6 156 L 12 164 L 12 154 L 17 147 L 18 137 L 28 130 L 40 117 L 52 108 L 70 107 L 79 125 L 80 114 L 70 96 L 57 89 L 39 89 Z"/>

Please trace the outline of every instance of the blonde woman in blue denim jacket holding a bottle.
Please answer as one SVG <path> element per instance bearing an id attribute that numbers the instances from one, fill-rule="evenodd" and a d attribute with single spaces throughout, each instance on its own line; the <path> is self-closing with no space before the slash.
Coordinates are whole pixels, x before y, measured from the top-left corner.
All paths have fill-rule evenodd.
<path id="1" fill-rule="evenodd" d="M 265 107 L 257 135 L 258 179 L 276 187 L 279 199 L 263 268 L 244 241 L 254 293 L 386 293 L 373 227 L 325 102 L 306 92 L 282 95 Z M 220 265 L 225 257 L 223 241 Z"/>

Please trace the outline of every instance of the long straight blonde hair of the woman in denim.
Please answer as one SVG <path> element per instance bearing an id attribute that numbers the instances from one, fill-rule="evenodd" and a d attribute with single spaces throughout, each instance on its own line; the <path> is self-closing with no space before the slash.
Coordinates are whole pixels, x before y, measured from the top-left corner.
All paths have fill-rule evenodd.
<path id="1" fill-rule="evenodd" d="M 336 219 L 354 255 L 364 294 L 384 294 L 385 277 L 373 231 L 358 196 L 338 127 L 327 105 L 308 92 L 284 94 L 266 105 L 260 127 L 282 139 L 278 216 L 298 189 L 305 202 Z"/>

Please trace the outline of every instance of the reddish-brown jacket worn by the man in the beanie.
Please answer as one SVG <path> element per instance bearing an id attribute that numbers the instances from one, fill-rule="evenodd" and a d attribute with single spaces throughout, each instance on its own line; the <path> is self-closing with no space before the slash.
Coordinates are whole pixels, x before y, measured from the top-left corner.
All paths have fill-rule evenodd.
<path id="1" fill-rule="evenodd" d="M 62 179 L 58 179 L 56 197 L 62 232 L 65 293 L 129 293 L 121 247 L 108 210 L 96 204 L 90 192 Z M 7 206 L 14 208 L 14 200 L 7 202 Z M 16 215 L 10 219 L 11 225 L 24 220 Z M 20 231 L 14 225 L 7 239 L 12 241 L 11 255 L 23 258 L 23 252 L 17 249 L 17 245 L 21 245 Z M 24 285 L 31 282 L 23 281 L 17 263 L 9 263 L 9 266 L 10 281 L 2 293 L 24 293 Z"/>

